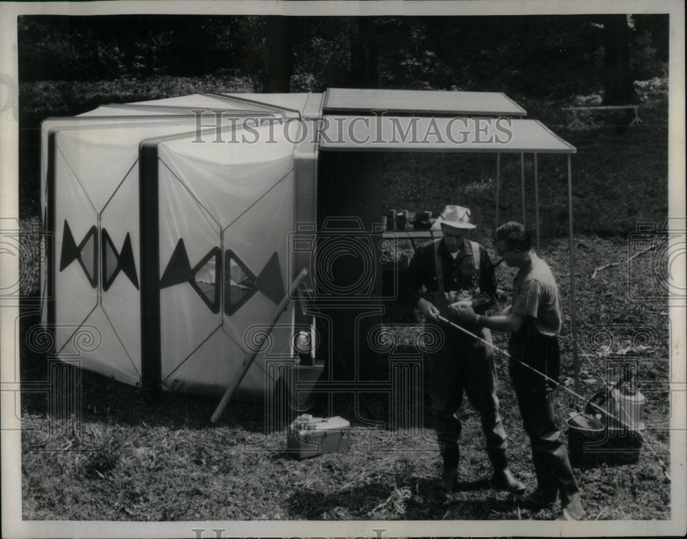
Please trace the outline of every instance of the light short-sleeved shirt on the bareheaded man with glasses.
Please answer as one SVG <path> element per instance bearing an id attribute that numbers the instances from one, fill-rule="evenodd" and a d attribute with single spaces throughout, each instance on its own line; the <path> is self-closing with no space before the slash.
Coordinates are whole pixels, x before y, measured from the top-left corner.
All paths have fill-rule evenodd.
<path id="1" fill-rule="evenodd" d="M 530 264 L 515 276 L 510 312 L 532 317 L 541 334 L 558 335 L 561 332 L 561 298 L 556 279 L 548 264 L 534 252 Z"/>

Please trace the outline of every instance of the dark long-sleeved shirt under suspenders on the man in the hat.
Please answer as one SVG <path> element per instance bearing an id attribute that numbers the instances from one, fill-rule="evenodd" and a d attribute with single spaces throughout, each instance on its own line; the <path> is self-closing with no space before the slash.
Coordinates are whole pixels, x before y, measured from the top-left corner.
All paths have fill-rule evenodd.
<path id="1" fill-rule="evenodd" d="M 409 303 L 413 306 L 417 306 L 420 297 L 433 301 L 433 295 L 439 292 L 433 243 L 420 245 L 408 265 L 405 291 Z M 474 294 L 475 284 L 477 284 L 479 291 L 473 299 L 475 312 L 486 312 L 496 303 L 495 266 L 484 246 L 480 245 L 480 275 L 478 276 L 475 276 L 475 262 L 468 240 L 463 240 L 455 260 L 447 251 L 443 240 L 439 244 L 438 255 L 442 263 L 443 292 L 471 290 Z"/>

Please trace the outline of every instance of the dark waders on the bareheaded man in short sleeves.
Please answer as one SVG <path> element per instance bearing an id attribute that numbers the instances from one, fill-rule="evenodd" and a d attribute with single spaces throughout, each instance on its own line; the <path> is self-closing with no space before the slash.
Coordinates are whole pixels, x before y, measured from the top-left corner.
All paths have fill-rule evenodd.
<path id="1" fill-rule="evenodd" d="M 560 431 L 554 420 L 555 385 L 521 365 L 530 365 L 558 381 L 558 338 L 525 328 L 510 337 L 510 378 L 513 380 L 523 428 L 530 437 L 537 490 L 545 496 L 561 495 L 561 506 L 581 512 L 577 482 Z"/>

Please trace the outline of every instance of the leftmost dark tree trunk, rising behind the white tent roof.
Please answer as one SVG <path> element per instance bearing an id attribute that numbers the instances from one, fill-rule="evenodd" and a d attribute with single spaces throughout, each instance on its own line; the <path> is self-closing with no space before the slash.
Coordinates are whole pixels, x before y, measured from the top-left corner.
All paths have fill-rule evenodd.
<path id="1" fill-rule="evenodd" d="M 289 93 L 293 67 L 289 17 L 270 15 L 266 19 L 267 58 L 265 58 L 262 91 L 264 93 Z"/>

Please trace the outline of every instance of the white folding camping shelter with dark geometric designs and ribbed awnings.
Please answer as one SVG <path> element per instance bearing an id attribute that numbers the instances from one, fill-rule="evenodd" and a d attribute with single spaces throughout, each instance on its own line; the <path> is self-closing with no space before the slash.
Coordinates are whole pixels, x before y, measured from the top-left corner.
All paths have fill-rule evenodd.
<path id="1" fill-rule="evenodd" d="M 388 299 L 385 152 L 535 163 L 565 153 L 572 196 L 575 149 L 524 114 L 502 93 L 330 89 L 196 94 L 45 120 L 41 205 L 54 240 L 41 288 L 53 356 L 131 385 L 221 395 L 259 349 L 237 393 L 260 399 L 285 378 L 302 400 L 323 360 L 359 357 L 365 339 L 349 330 L 374 325 Z M 570 234 L 574 268 L 572 206 Z M 343 271 L 342 256 L 352 262 Z M 305 294 L 267 327 L 303 267 Z M 302 334 L 313 337 L 299 356 Z"/>

